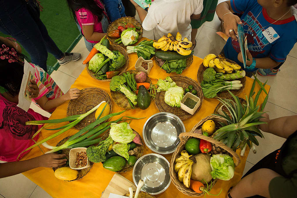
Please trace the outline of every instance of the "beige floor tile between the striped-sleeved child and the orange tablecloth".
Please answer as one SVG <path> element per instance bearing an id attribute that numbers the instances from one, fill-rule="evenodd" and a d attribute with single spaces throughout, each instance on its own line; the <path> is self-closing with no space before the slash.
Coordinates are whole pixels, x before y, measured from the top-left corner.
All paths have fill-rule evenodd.
<path id="1" fill-rule="evenodd" d="M 53 71 L 53 73 L 50 76 L 55 80 L 57 85 L 59 85 L 59 87 L 64 93 L 66 93 L 69 90 L 71 85 L 76 80 L 76 78 L 69 76 L 64 72 L 61 72 L 60 70 Z"/>

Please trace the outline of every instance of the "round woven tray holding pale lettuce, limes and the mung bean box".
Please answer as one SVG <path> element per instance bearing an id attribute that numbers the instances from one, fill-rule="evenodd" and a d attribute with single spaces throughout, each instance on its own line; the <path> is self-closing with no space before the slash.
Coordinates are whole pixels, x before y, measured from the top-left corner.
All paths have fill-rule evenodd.
<path id="1" fill-rule="evenodd" d="M 197 96 L 198 98 L 200 98 L 200 106 L 195 112 L 197 113 L 200 110 L 203 103 L 203 93 L 198 83 L 196 83 L 195 80 L 183 75 L 172 75 L 170 76 L 170 78 L 176 83 L 177 86 L 182 87 L 183 89 L 188 88 L 189 85 L 193 85 L 194 87 L 193 89 L 197 91 Z M 165 91 L 161 91 L 156 94 L 155 104 L 160 112 L 173 113 L 174 115 L 177 115 L 181 120 L 185 120 L 193 116 L 187 113 L 186 111 L 182 110 L 181 108 L 171 107 L 168 104 L 166 104 L 164 101 L 164 96 L 165 96 Z"/>

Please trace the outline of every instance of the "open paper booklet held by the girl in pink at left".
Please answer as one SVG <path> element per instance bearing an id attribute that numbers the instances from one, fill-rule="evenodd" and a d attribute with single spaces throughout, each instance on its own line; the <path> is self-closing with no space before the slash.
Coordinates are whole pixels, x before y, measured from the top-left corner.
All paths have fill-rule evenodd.
<path id="1" fill-rule="evenodd" d="M 18 107 L 22 108 L 25 111 L 28 111 L 30 108 L 30 104 L 32 102 L 32 99 L 29 98 L 30 93 L 29 93 L 29 85 L 31 84 L 30 79 L 34 79 L 35 75 L 35 69 L 32 67 L 26 60 L 24 64 L 24 75 L 23 75 L 23 80 L 22 84 L 20 87 L 20 93 L 19 93 L 19 103 Z"/>

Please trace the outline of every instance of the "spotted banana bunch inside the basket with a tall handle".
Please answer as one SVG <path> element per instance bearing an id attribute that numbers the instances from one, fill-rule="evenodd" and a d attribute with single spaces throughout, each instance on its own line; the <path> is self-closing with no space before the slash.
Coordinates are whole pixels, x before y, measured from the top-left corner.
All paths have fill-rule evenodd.
<path id="1" fill-rule="evenodd" d="M 183 182 L 184 185 L 190 187 L 190 179 L 192 174 L 193 161 L 189 159 L 192 155 L 189 155 L 187 151 L 181 151 L 181 155 L 175 159 L 174 171 L 177 172 L 178 180 Z"/>

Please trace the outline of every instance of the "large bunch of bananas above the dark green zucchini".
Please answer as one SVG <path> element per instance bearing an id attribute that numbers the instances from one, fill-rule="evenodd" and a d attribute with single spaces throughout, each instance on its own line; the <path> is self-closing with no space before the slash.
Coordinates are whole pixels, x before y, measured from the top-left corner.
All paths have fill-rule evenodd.
<path id="1" fill-rule="evenodd" d="M 187 56 L 192 53 L 192 50 L 186 50 L 189 47 L 192 47 L 192 42 L 189 41 L 186 37 L 184 40 L 181 40 L 181 33 L 177 32 L 176 38 L 171 33 L 167 34 L 167 37 L 164 35 L 159 40 L 153 43 L 153 47 L 156 49 L 161 49 L 162 51 L 174 50 L 180 55 Z"/>

